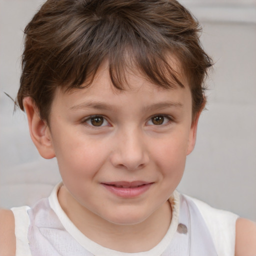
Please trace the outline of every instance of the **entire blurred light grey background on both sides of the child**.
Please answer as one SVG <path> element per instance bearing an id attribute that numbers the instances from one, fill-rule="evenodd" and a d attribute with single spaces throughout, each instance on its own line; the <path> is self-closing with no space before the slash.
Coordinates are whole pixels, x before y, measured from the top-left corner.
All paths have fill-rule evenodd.
<path id="1" fill-rule="evenodd" d="M 41 159 L 15 98 L 22 29 L 41 0 L 0 0 L 0 206 L 31 204 L 60 179 Z M 203 27 L 215 61 L 197 143 L 178 190 L 256 220 L 256 1 L 183 0 Z"/>

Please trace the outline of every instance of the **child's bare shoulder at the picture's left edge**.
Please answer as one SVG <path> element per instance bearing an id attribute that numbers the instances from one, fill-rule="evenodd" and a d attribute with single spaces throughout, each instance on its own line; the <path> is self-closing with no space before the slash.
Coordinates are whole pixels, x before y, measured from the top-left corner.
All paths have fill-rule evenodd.
<path id="1" fill-rule="evenodd" d="M 0 255 L 15 255 L 15 224 L 11 210 L 0 209 Z"/>

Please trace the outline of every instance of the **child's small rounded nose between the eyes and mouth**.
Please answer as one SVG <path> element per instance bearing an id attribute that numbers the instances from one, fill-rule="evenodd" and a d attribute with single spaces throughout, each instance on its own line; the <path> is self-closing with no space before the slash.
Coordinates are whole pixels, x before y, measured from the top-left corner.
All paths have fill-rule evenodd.
<path id="1" fill-rule="evenodd" d="M 143 134 L 135 129 L 119 132 L 115 138 L 110 160 L 115 167 L 127 170 L 136 170 L 146 166 L 149 162 L 149 155 Z"/>

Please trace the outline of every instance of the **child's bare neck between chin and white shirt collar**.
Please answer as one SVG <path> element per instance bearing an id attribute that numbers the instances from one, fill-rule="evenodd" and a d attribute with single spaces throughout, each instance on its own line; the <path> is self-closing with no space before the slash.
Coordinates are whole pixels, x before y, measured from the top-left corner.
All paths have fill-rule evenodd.
<path id="1" fill-rule="evenodd" d="M 168 230 L 170 203 L 166 201 L 145 220 L 136 224 L 115 224 L 79 204 L 61 187 L 59 203 L 74 225 L 94 242 L 122 252 L 147 251 L 157 245 Z"/>

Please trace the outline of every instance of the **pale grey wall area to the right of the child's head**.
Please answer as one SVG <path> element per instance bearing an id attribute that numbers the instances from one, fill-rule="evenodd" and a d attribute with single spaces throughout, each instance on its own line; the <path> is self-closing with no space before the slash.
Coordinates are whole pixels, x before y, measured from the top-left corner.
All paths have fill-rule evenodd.
<path id="1" fill-rule="evenodd" d="M 179 189 L 256 220 L 256 2 L 184 2 L 215 65 Z"/>

